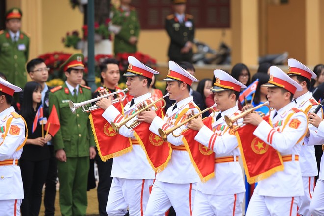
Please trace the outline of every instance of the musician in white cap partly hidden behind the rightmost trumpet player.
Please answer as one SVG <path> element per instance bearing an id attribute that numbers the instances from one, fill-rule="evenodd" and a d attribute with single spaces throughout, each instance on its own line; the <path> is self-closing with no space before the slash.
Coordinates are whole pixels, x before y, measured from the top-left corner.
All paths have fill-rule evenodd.
<path id="1" fill-rule="evenodd" d="M 288 66 L 288 76 L 302 87 L 302 91 L 296 91 L 294 94 L 294 102 L 296 103 L 295 107 L 306 114 L 314 112 L 315 108 L 318 106 L 318 102 L 313 98 L 312 92 L 309 91 L 309 88 L 311 87 L 311 79 L 315 79 L 316 74 L 293 58 L 288 59 Z M 318 112 L 317 114 L 319 117 L 322 117 L 321 112 Z M 312 124 L 308 124 L 308 128 L 312 131 L 317 129 Z M 298 204 L 298 214 L 300 216 L 311 216 L 309 204 L 314 191 L 315 176 L 318 175 L 314 151 L 314 146 L 303 144 L 299 155 L 299 163 L 305 192 L 305 195 L 300 198 L 300 203 Z"/>

